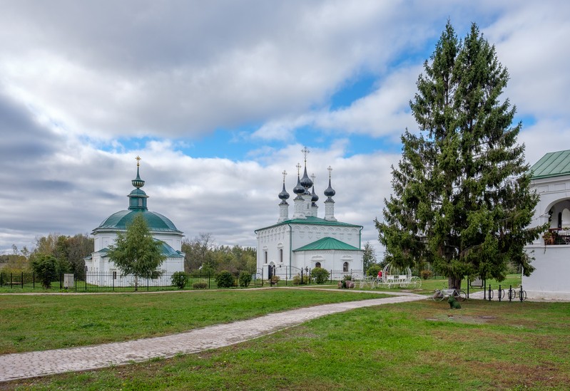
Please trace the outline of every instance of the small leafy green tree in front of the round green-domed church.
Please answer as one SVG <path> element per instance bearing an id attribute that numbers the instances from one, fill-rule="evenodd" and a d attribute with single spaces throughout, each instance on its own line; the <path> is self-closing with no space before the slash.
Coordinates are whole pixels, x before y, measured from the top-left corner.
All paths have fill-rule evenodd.
<path id="1" fill-rule="evenodd" d="M 161 241 L 153 238 L 143 214 L 136 215 L 125 234 L 117 233 L 107 256 L 121 270 L 121 276 L 135 276 L 135 291 L 138 290 L 138 278 L 161 276 L 161 271 L 156 268 L 166 259 L 161 251 Z"/>

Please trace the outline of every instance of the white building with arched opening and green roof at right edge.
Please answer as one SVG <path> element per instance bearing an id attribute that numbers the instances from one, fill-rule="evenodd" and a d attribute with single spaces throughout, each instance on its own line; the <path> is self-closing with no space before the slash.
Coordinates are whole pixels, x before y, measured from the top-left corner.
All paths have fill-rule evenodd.
<path id="1" fill-rule="evenodd" d="M 531 188 L 540 196 L 534 221 L 548 222 L 552 239 L 525 247 L 536 270 L 523 276 L 522 286 L 529 298 L 570 299 L 570 150 L 547 153 L 531 171 Z"/>

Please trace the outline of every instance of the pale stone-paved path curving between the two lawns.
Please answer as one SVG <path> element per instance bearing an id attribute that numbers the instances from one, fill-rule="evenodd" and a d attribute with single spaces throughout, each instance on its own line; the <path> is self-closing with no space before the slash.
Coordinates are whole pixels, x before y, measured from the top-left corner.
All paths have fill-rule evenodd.
<path id="1" fill-rule="evenodd" d="M 92 370 L 111 365 L 124 365 L 157 357 L 168 358 L 178 353 L 198 353 L 202 350 L 221 348 L 261 335 L 275 333 L 275 331 L 283 330 L 283 328 L 331 313 L 388 303 L 419 301 L 427 298 L 427 296 L 413 293 L 397 294 L 400 296 L 300 308 L 157 338 L 81 348 L 0 355 L 0 382 L 69 371 Z"/>

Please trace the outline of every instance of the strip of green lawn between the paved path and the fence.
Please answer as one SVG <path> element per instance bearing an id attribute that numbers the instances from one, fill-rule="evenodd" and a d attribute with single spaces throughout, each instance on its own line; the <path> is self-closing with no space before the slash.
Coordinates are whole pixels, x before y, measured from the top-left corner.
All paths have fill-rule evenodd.
<path id="1" fill-rule="evenodd" d="M 376 293 L 271 288 L 169 293 L 0 296 L 0 354 L 178 333 Z"/>

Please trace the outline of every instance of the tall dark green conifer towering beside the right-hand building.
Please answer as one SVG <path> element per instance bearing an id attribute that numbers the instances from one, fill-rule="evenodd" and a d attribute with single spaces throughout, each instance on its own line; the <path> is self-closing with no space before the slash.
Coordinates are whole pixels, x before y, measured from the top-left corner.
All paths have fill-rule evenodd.
<path id="1" fill-rule="evenodd" d="M 534 268 L 524 245 L 538 196 L 530 191 L 521 123 L 499 100 L 509 75 L 477 24 L 463 40 L 448 21 L 410 101 L 419 135 L 402 135 L 393 193 L 375 221 L 387 260 L 432 264 L 460 288 L 465 276 L 504 279 L 509 261 Z"/>

